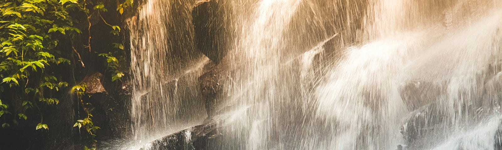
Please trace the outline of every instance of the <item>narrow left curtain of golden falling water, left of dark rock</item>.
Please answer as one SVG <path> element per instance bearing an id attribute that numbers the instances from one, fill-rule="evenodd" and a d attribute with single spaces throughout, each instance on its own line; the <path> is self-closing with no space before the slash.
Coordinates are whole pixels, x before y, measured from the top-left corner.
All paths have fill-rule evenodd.
<path id="1" fill-rule="evenodd" d="M 188 19 L 192 4 L 146 0 L 131 31 L 134 141 L 150 142 L 204 119 L 197 78 L 209 59 L 194 52 Z M 175 17 L 182 16 L 182 17 Z"/>

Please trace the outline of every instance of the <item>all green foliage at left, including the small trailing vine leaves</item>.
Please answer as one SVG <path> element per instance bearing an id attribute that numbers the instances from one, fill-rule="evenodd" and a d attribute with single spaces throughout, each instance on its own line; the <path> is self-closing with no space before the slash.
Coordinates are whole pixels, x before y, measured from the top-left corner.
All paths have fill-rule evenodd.
<path id="1" fill-rule="evenodd" d="M 57 70 L 62 70 L 61 68 L 70 70 L 69 64 L 82 61 L 72 62 L 68 56 L 78 54 L 78 50 L 83 50 L 81 48 L 88 48 L 90 52 L 90 19 L 101 18 L 110 26 L 112 34 L 118 35 L 120 32 L 119 26 L 108 24 L 101 16 L 100 12 L 108 11 L 103 1 L 0 0 L 0 79 L 2 79 L 0 99 L 4 99 L 0 100 L 2 127 L 10 127 L 21 120 L 40 118 L 40 123 L 33 124 L 35 129 L 49 129 L 49 126 L 43 123 L 44 113 L 40 106 L 50 107 L 60 102 L 53 96 L 67 87 L 68 82 L 62 80 Z M 133 4 L 132 0 L 125 0 L 122 3 L 120 1 L 122 0 L 119 0 L 116 9 L 120 14 L 124 8 Z M 74 25 L 87 22 L 88 26 L 80 28 Z M 81 39 L 81 30 L 88 31 L 89 40 Z M 60 40 L 70 43 L 61 46 Z M 68 47 L 77 48 L 68 49 Z M 124 48 L 119 43 L 113 43 L 113 47 Z M 120 80 L 125 74 L 118 71 L 118 59 L 111 53 L 105 57 L 109 71 L 113 72 L 112 80 Z M 81 63 L 83 66 L 83 62 Z M 85 88 L 85 84 L 71 88 L 87 113 L 87 117 L 81 121 L 77 120 L 76 124 L 79 128 L 85 127 L 90 135 L 95 136 L 95 131 L 99 127 L 92 122 L 91 104 L 82 101 Z M 5 92 L 9 94 L 4 94 Z M 27 113 L 28 109 L 38 110 L 34 114 L 37 116 Z M 95 144 L 90 147 L 85 146 L 84 149 L 95 149 Z"/>

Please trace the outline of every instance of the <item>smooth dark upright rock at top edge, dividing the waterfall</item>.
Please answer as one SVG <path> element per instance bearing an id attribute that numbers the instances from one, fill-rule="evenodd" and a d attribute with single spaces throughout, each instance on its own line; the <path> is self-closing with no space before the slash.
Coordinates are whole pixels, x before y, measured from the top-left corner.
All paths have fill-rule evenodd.
<path id="1" fill-rule="evenodd" d="M 223 49 L 222 10 L 215 0 L 198 1 L 192 10 L 192 23 L 197 48 L 215 63 L 219 63 L 226 50 Z"/>

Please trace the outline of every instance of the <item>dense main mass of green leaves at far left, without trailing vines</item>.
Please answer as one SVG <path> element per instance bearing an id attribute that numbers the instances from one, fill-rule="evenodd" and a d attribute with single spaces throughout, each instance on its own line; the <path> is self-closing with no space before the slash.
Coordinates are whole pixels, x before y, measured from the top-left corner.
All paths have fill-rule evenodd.
<path id="1" fill-rule="evenodd" d="M 33 107 L 40 111 L 39 104 L 58 104 L 59 100 L 52 97 L 53 93 L 68 85 L 54 76 L 54 70 L 56 67 L 67 67 L 59 64 L 70 64 L 61 54 L 62 49 L 58 48 L 57 43 L 60 38 L 72 39 L 73 36 L 59 36 L 51 32 L 55 28 L 62 34 L 70 32 L 71 35 L 77 35 L 79 30 L 70 27 L 74 20 L 70 19 L 67 7 L 58 2 L 0 1 L 0 87 L 4 89 L 3 85 L 9 85 L 9 102 L 21 105 L 8 107 L 2 103 L 2 127 L 31 118 L 25 111 Z M 39 116 L 33 117 L 40 118 L 40 123 L 35 126 L 37 130 L 49 129 L 43 123 L 42 114 L 38 112 Z"/>

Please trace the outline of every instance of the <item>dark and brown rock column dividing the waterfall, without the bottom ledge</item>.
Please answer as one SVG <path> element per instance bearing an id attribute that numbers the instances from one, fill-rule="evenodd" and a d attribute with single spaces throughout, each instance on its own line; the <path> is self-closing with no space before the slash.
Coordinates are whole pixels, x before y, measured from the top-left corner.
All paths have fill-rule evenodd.
<path id="1" fill-rule="evenodd" d="M 197 48 L 217 65 L 199 77 L 200 90 L 210 119 L 224 95 L 223 84 L 228 79 L 228 65 L 222 62 L 227 54 L 223 48 L 222 10 L 216 0 L 199 0 L 192 10 L 192 23 Z"/>

